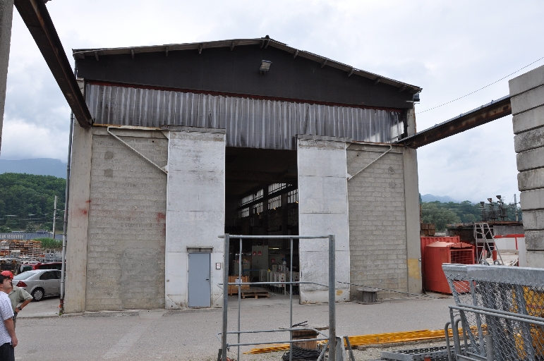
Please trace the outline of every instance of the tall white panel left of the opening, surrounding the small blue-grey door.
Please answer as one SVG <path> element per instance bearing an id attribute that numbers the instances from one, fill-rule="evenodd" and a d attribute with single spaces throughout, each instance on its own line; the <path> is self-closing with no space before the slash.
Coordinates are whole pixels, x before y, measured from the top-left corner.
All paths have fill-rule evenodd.
<path id="1" fill-rule="evenodd" d="M 168 172 L 165 298 L 167 308 L 181 308 L 188 307 L 188 247 L 207 247 L 211 265 L 222 262 L 225 135 L 171 131 Z M 224 267 L 211 268 L 212 307 L 220 307 Z"/>

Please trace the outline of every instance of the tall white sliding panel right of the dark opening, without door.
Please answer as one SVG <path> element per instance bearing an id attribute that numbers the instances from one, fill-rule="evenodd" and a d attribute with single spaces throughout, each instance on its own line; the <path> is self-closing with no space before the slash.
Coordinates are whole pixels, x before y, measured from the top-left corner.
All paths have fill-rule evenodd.
<path id="1" fill-rule="evenodd" d="M 349 282 L 349 224 L 344 142 L 298 140 L 298 231 L 336 238 L 336 279 Z M 328 283 L 328 241 L 301 240 L 301 281 Z M 337 285 L 336 300 L 349 300 L 349 286 Z M 322 286 L 301 285 L 300 302 L 327 302 Z"/>

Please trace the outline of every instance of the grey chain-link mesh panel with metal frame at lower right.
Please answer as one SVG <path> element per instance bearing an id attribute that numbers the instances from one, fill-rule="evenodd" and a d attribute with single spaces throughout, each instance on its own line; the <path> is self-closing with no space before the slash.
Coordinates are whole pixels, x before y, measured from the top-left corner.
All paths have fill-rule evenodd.
<path id="1" fill-rule="evenodd" d="M 455 350 L 450 360 L 544 360 L 544 269 L 442 268 L 456 303 L 449 307 Z"/>

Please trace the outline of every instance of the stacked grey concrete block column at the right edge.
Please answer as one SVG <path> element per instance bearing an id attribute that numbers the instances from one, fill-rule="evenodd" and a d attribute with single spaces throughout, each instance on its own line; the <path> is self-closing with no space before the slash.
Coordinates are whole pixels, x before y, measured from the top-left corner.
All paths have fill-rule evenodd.
<path id="1" fill-rule="evenodd" d="M 509 81 L 528 267 L 544 267 L 544 66 Z"/>

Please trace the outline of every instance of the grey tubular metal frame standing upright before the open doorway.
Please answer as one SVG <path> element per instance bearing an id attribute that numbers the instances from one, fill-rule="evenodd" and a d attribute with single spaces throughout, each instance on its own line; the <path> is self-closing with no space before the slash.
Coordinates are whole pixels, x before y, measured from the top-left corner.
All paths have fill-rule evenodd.
<path id="1" fill-rule="evenodd" d="M 217 336 L 221 335 L 222 342 L 222 361 L 226 361 L 226 351 L 227 348 L 231 346 L 238 347 L 238 359 L 240 361 L 240 346 L 246 345 L 265 345 L 269 343 L 289 343 L 289 361 L 292 360 L 293 352 L 292 345 L 294 342 L 303 342 L 303 341 L 325 341 L 329 346 L 329 361 L 336 361 L 336 314 L 335 314 L 335 305 L 334 305 L 334 296 L 335 296 L 335 287 L 336 276 L 335 276 L 335 247 L 334 247 L 334 235 L 229 235 L 228 233 L 224 235 L 219 235 L 219 238 L 224 238 L 224 273 L 223 273 L 223 324 L 222 332 L 218 333 Z M 229 283 L 229 243 L 231 238 L 240 240 L 240 255 L 242 254 L 242 240 L 243 239 L 289 239 L 291 240 L 291 271 L 289 272 L 289 282 L 236 282 Z M 325 285 L 317 282 L 309 281 L 293 281 L 293 240 L 303 240 L 303 239 L 328 239 L 329 240 L 329 284 Z M 240 256 L 241 261 L 241 256 Z M 242 262 L 239 262 L 238 265 L 238 275 L 242 276 Z M 241 331 L 240 329 L 240 305 L 241 305 L 241 286 L 242 285 L 271 285 L 283 283 L 284 285 L 289 285 L 289 327 L 286 329 L 272 329 L 272 330 L 251 330 L 251 331 Z M 324 286 L 329 288 L 329 335 L 322 334 L 320 331 L 315 329 L 310 329 L 317 332 L 319 335 L 324 336 L 325 338 L 310 338 L 310 339 L 293 339 L 293 331 L 308 330 L 308 327 L 293 327 L 293 285 L 294 284 L 316 284 L 319 286 Z M 227 312 L 229 309 L 229 285 L 238 286 L 238 331 L 226 331 L 227 326 Z M 241 334 L 258 334 L 258 333 L 274 333 L 274 332 L 287 332 L 289 331 L 289 341 L 267 341 L 267 342 L 255 342 L 255 343 L 241 343 Z M 226 336 L 228 334 L 236 334 L 238 336 L 237 343 L 227 343 Z M 320 358 L 318 360 L 325 360 L 325 350 L 327 350 L 327 345 L 322 350 Z"/>

